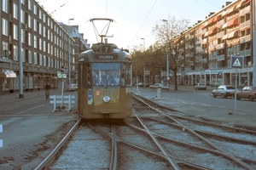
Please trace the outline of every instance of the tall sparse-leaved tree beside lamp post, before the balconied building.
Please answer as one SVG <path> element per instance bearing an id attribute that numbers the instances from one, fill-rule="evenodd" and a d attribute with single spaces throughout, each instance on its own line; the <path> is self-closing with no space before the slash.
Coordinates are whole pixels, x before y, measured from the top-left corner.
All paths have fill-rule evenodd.
<path id="1" fill-rule="evenodd" d="M 186 37 L 183 32 L 189 28 L 189 25 L 189 20 L 177 20 L 169 16 L 168 20 L 160 20 L 160 24 L 156 24 L 153 28 L 157 39 L 155 44 L 169 53 L 169 70 L 173 71 L 175 90 L 177 90 L 177 71 L 185 66 L 187 60 Z"/>

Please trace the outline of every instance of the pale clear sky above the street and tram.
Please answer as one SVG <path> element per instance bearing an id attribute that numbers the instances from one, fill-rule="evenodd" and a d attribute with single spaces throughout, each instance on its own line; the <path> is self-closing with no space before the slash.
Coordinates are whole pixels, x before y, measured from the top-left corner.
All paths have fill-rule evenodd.
<path id="1" fill-rule="evenodd" d="M 38 0 L 44 10 L 57 22 L 79 26 L 88 43 L 96 43 L 97 38 L 92 18 L 113 19 L 108 30 L 108 42 L 119 48 L 132 49 L 134 46 L 147 49 L 154 44 L 152 30 L 161 20 L 175 17 L 187 19 L 191 26 L 198 20 L 205 20 L 210 12 L 218 12 L 224 0 Z M 230 0 L 229 2 L 235 2 Z M 73 20 L 69 20 L 73 19 Z M 98 24 L 97 24 L 98 23 Z M 97 30 L 106 26 L 104 21 L 97 22 Z M 104 31 L 105 33 L 105 31 Z M 143 38 L 143 39 L 142 39 Z"/>

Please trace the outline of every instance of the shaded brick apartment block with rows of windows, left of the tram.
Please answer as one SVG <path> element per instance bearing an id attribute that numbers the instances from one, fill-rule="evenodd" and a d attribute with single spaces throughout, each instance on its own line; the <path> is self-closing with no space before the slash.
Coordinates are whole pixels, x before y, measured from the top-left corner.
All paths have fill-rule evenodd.
<path id="1" fill-rule="evenodd" d="M 78 27 L 60 25 L 34 0 L 21 0 L 19 16 L 19 2 L 0 3 L 0 94 L 19 90 L 20 74 L 26 91 L 42 89 L 48 83 L 56 88 L 61 82 L 57 73 L 63 66 L 70 69 L 69 80 L 75 82 L 75 56 L 87 48 Z"/>

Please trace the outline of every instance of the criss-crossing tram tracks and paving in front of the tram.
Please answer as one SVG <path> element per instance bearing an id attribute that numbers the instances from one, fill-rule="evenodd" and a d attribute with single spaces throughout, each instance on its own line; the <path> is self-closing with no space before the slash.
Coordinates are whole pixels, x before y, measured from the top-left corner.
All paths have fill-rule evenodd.
<path id="1" fill-rule="evenodd" d="M 157 105 L 139 100 L 135 103 L 141 105 L 134 105 L 133 115 L 125 119 L 123 126 L 88 122 L 82 126 L 80 123 L 79 132 L 67 138 L 70 139 L 66 140 L 67 148 L 56 154 L 59 156 L 49 169 L 58 169 L 63 162 L 71 164 L 64 168 L 72 169 L 72 162 L 79 160 L 83 161 L 77 162 L 73 168 L 255 169 L 254 131 L 194 120 L 194 117 L 178 111 L 168 111 L 161 106 L 157 108 Z M 207 128 L 209 132 L 205 130 Z M 224 144 L 227 148 L 221 147 Z M 240 144 L 252 153 L 239 155 L 230 151 L 229 144 Z M 75 151 L 75 148 L 79 149 Z M 62 154 L 66 161 L 59 160 Z"/>

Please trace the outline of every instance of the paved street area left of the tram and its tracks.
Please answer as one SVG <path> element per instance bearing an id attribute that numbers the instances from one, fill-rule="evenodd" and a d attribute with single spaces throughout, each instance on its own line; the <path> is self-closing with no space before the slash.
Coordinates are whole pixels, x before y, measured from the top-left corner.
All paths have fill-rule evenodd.
<path id="1" fill-rule="evenodd" d="M 0 169 L 32 169 L 38 166 L 48 156 L 52 144 L 62 139 L 61 135 L 65 135 L 78 120 L 73 111 L 53 112 L 53 105 L 45 100 L 44 93 L 44 90 L 25 92 L 23 99 L 19 98 L 19 92 L 0 96 L 0 124 L 3 125 Z M 49 93 L 61 94 L 57 89 Z"/>

